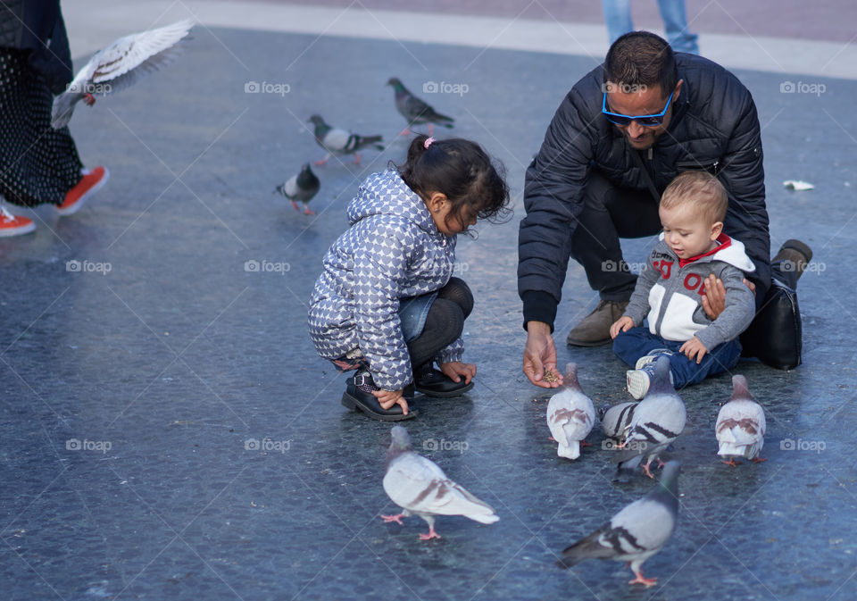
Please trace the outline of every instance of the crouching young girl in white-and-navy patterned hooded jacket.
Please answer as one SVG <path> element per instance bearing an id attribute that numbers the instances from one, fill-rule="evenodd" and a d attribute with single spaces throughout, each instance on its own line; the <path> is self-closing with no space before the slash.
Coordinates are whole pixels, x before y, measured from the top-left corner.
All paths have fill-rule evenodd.
<path id="1" fill-rule="evenodd" d="M 357 370 L 342 396 L 349 409 L 406 420 L 416 415 L 413 388 L 473 388 L 461 339 L 473 296 L 452 277 L 455 237 L 510 213 L 501 172 L 473 142 L 418 136 L 404 165 L 370 175 L 348 205 L 350 228 L 324 256 L 309 327 L 320 356 Z"/>

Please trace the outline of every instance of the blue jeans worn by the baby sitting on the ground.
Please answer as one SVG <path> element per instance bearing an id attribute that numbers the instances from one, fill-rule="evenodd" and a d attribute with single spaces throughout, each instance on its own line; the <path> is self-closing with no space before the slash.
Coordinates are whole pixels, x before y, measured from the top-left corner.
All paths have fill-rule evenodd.
<path id="1" fill-rule="evenodd" d="M 652 334 L 648 328 L 631 328 L 620 332 L 613 340 L 613 352 L 634 369 L 637 359 L 648 355 L 656 348 L 667 348 L 673 352 L 670 355 L 670 372 L 676 389 L 698 384 L 709 376 L 722 371 L 728 371 L 736 366 L 741 355 L 741 345 L 737 340 L 724 342 L 706 353 L 702 363 L 691 361 L 686 355 L 678 352 L 682 342 L 664 340 Z"/>

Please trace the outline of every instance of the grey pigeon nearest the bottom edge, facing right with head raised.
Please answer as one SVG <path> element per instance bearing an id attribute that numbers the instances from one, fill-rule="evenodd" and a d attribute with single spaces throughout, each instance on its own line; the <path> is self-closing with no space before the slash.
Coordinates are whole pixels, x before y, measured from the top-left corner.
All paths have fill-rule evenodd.
<path id="1" fill-rule="evenodd" d="M 680 467 L 677 461 L 664 465 L 661 481 L 648 495 L 625 506 L 610 522 L 562 551 L 557 564 L 570 568 L 592 558 L 628 562 L 636 577 L 628 584 L 657 584 L 658 579 L 645 578 L 640 567 L 666 545 L 676 530 Z"/>

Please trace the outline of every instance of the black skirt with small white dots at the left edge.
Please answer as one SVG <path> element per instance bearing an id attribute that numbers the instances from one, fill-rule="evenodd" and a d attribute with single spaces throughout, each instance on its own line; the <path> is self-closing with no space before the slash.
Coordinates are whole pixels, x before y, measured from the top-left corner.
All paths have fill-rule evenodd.
<path id="1" fill-rule="evenodd" d="M 51 127 L 54 96 L 27 54 L 0 48 L 0 195 L 14 205 L 59 205 L 83 165 L 69 128 Z"/>

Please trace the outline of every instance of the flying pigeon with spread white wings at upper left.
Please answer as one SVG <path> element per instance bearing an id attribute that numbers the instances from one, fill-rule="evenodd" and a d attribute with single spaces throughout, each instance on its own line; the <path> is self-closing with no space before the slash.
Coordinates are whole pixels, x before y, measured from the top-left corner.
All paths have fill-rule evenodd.
<path id="1" fill-rule="evenodd" d="M 194 21 L 185 20 L 133 33 L 96 52 L 78 71 L 69 88 L 54 98 L 51 127 L 65 127 L 80 100 L 92 106 L 96 104 L 94 94 L 106 96 L 128 88 L 137 79 L 171 63 L 178 51 L 176 44 L 193 26 Z"/>

